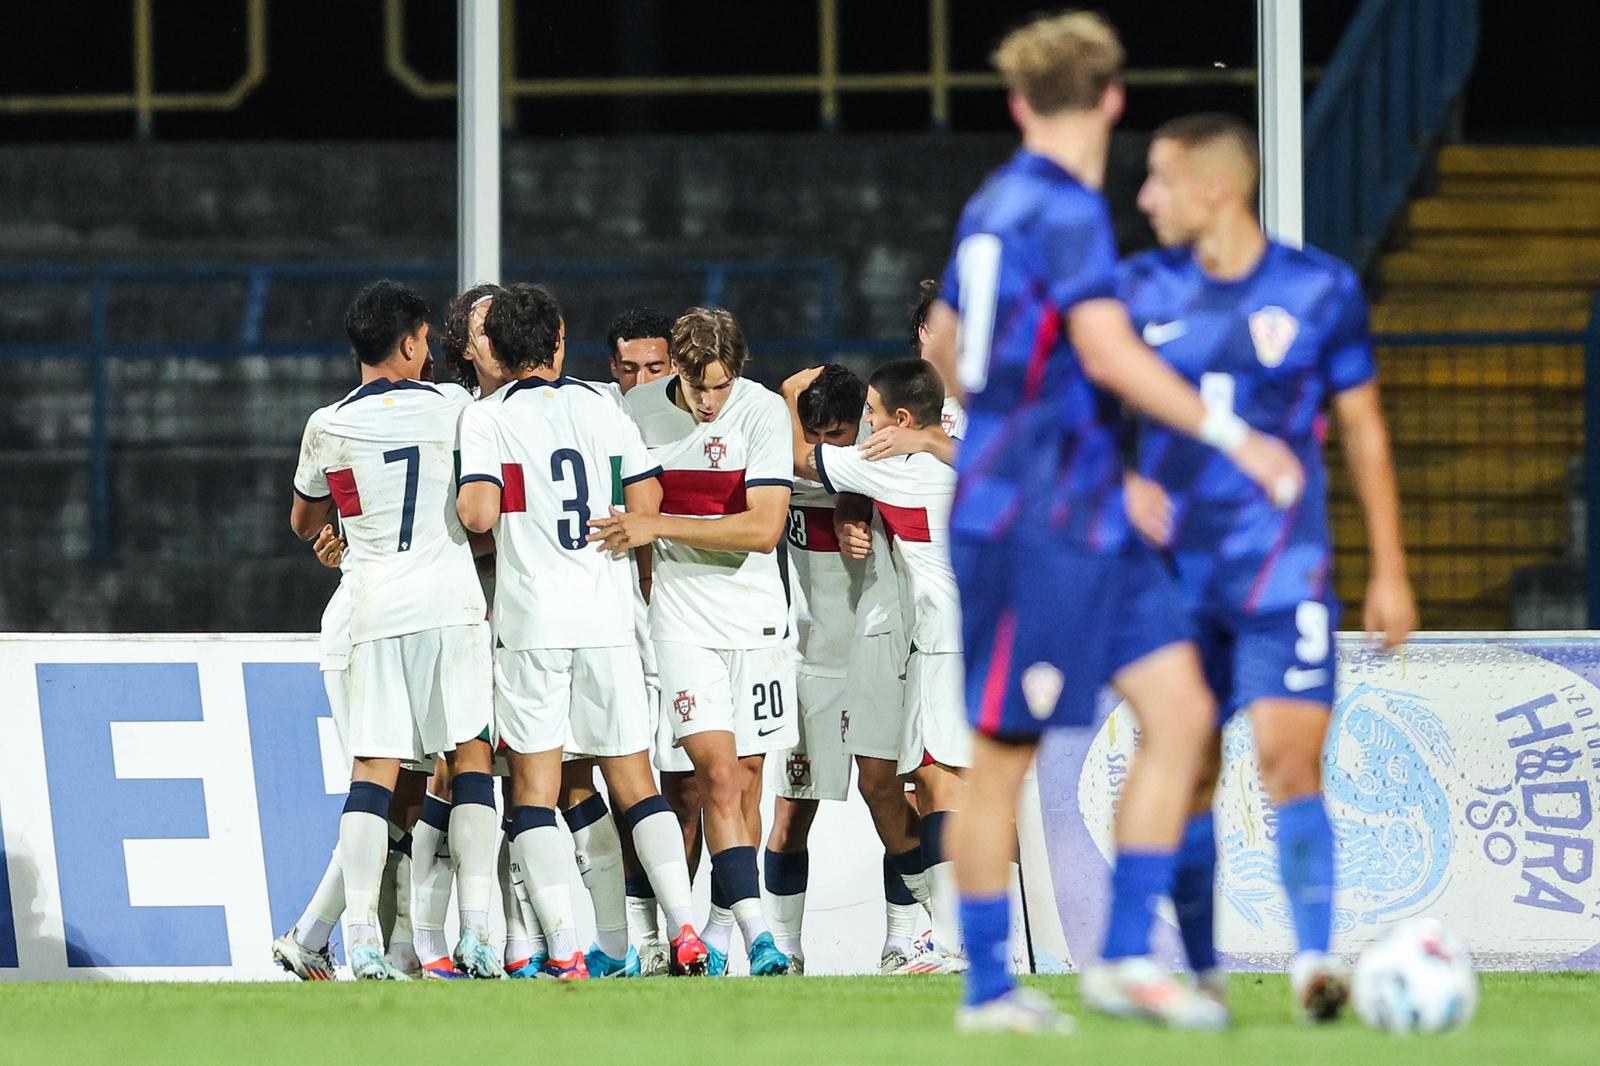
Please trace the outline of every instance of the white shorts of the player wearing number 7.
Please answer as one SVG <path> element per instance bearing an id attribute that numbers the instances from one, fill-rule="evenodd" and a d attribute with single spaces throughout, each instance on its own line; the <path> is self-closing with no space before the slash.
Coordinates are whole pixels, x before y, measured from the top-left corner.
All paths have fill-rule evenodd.
<path id="1" fill-rule="evenodd" d="M 421 760 L 491 727 L 488 623 L 381 637 L 350 648 L 350 754 Z"/>

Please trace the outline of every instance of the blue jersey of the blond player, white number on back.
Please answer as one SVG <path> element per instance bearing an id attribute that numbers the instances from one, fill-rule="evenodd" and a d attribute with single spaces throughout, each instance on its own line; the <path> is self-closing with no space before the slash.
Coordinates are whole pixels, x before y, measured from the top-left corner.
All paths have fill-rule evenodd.
<path id="1" fill-rule="evenodd" d="M 1019 150 L 968 200 L 941 293 L 962 315 L 957 535 L 1027 523 L 1098 552 L 1126 543 L 1120 408 L 1066 335 L 1075 304 L 1114 296 L 1115 269 L 1106 200 L 1043 155 Z"/>

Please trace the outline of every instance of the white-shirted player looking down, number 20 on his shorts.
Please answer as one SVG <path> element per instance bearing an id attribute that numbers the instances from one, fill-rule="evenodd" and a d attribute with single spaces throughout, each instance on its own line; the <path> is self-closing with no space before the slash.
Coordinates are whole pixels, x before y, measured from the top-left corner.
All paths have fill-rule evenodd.
<path id="1" fill-rule="evenodd" d="M 650 634 L 662 715 L 701 778 L 714 914 L 739 924 L 752 973 L 779 975 L 789 960 L 762 914 L 746 797 L 765 754 L 797 738 L 784 546 L 794 463 L 789 411 L 741 376 L 747 360 L 726 311 L 691 307 L 677 320 L 675 373 L 627 394 L 664 467 L 661 514 L 600 519 L 594 539 L 608 551 L 658 544 Z M 710 972 L 723 972 L 731 928 L 709 922 L 702 936 Z"/>

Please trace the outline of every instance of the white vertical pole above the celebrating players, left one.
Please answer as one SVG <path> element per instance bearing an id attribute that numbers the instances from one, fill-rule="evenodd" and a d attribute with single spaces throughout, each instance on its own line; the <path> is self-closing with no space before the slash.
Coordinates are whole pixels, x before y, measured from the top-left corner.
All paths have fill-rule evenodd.
<path id="1" fill-rule="evenodd" d="M 458 0 L 456 291 L 499 282 L 499 0 Z"/>

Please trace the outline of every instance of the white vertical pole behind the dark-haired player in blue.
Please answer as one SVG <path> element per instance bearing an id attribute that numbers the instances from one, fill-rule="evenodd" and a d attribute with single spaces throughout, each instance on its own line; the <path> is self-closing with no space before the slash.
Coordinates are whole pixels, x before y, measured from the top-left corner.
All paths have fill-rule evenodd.
<path id="1" fill-rule="evenodd" d="M 1304 86 L 1301 0 L 1256 0 L 1261 224 L 1296 248 L 1306 242 Z"/>

